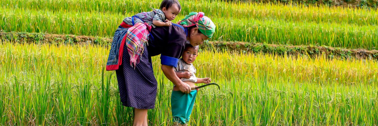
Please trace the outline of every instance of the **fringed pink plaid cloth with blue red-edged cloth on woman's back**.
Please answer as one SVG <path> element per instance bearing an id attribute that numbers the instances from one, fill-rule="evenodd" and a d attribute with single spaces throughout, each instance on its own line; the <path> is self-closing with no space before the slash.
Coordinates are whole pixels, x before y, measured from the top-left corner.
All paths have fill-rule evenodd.
<path id="1" fill-rule="evenodd" d="M 130 65 L 135 68 L 136 64 L 139 63 L 139 56 L 143 53 L 144 44 L 148 41 L 151 27 L 147 23 L 138 22 L 131 26 L 122 22 L 118 26 L 118 29 L 114 34 L 110 48 L 106 64 L 107 71 L 117 70 L 119 65 L 122 65 L 122 54 L 125 44 L 130 55 Z"/>

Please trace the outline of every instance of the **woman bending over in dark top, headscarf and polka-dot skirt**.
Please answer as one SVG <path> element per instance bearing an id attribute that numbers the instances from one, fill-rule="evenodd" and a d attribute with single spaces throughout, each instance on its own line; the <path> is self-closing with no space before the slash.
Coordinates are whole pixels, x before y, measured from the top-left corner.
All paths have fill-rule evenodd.
<path id="1" fill-rule="evenodd" d="M 135 22 L 141 22 L 141 20 L 136 17 Z M 116 75 L 122 104 L 133 107 L 135 110 L 134 126 L 147 126 L 147 110 L 155 108 L 157 81 L 153 75 L 152 56 L 161 54 L 161 70 L 164 75 L 181 92 L 187 94 L 191 92 L 190 86 L 177 77 L 173 67 L 177 66 L 185 44 L 189 42 L 193 46 L 201 45 L 204 40 L 212 37 L 215 25 L 210 18 L 204 16 L 203 12 L 199 14 L 191 12 L 179 24 L 151 29 L 148 45 L 143 47 L 144 51 L 139 55 L 135 67 L 128 64 L 130 63 L 128 53 L 117 51 L 118 49 L 123 52 L 128 51 L 127 48 L 121 46 L 128 28 L 121 24 L 115 32 L 107 67 L 113 65 L 117 68 Z M 117 57 L 120 59 L 118 60 Z"/>

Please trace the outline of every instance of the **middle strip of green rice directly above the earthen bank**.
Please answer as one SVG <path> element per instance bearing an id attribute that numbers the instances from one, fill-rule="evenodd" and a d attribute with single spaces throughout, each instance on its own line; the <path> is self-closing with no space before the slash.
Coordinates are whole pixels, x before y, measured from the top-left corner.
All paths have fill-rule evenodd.
<path id="1" fill-rule="evenodd" d="M 46 11 L 3 8 L 0 29 L 53 34 L 112 37 L 122 19 L 133 14 Z M 178 18 L 182 18 L 180 15 Z M 256 41 L 270 44 L 325 45 L 375 49 L 378 26 L 349 23 L 291 22 L 278 19 L 225 18 L 211 16 L 217 25 L 213 41 Z M 177 21 L 177 20 L 176 20 Z"/>

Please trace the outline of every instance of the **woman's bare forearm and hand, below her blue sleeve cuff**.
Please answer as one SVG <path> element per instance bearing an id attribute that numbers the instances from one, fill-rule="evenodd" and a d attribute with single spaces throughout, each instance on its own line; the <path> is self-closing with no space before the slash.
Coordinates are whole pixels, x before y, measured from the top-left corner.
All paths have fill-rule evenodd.
<path id="1" fill-rule="evenodd" d="M 164 75 L 172 81 L 174 85 L 180 89 L 181 92 L 189 94 L 191 92 L 191 88 L 187 83 L 184 83 L 177 77 L 173 66 L 161 65 L 161 70 L 163 71 Z"/>

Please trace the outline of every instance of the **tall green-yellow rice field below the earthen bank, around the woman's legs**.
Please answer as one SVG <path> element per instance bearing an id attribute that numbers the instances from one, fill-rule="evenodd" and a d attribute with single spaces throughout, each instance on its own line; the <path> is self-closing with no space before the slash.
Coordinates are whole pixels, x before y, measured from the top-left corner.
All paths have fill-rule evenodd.
<path id="1" fill-rule="evenodd" d="M 130 125 L 108 48 L 1 41 L 0 125 Z M 169 126 L 170 83 L 158 81 L 149 124 Z M 376 125 L 377 62 L 201 51 L 198 77 L 220 84 L 197 95 L 192 126 Z"/>

